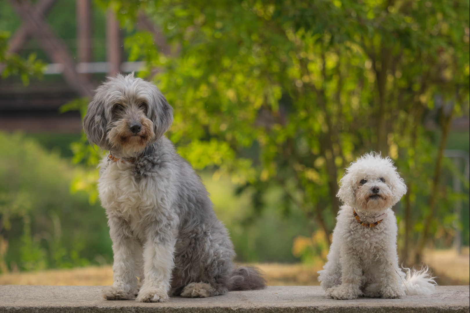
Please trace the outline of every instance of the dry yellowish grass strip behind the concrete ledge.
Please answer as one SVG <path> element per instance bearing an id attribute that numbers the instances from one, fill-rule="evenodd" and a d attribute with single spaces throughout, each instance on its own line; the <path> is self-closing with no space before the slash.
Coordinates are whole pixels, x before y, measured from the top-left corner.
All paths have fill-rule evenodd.
<path id="1" fill-rule="evenodd" d="M 425 261 L 440 285 L 469 284 L 469 247 L 458 255 L 454 250 L 430 250 Z M 317 271 L 321 267 L 308 264 L 257 263 L 266 274 L 270 286 L 319 285 Z M 103 286 L 113 282 L 111 266 L 53 269 L 38 272 L 20 272 L 0 275 L 1 285 L 75 285 Z"/>

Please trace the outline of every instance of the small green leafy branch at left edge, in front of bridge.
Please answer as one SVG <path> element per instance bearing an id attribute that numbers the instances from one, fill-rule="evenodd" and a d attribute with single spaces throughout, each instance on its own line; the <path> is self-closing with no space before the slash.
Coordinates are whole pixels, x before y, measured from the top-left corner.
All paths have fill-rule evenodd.
<path id="1" fill-rule="evenodd" d="M 0 31 L 0 64 L 4 67 L 2 67 L 2 78 L 19 75 L 23 84 L 27 85 L 31 76 L 42 77 L 45 64 L 36 60 L 36 54 L 31 53 L 27 59 L 23 59 L 16 53 L 7 53 L 9 37 L 8 31 Z"/>

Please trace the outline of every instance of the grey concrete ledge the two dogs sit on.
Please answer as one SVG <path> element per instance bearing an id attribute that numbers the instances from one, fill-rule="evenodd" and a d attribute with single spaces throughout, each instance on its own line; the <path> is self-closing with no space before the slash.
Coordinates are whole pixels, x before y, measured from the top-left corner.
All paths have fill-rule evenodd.
<path id="1" fill-rule="evenodd" d="M 165 303 L 108 301 L 100 286 L 0 286 L 0 312 L 24 313 L 434 313 L 469 312 L 469 286 L 439 286 L 431 296 L 402 299 L 326 298 L 319 286 L 270 286 L 212 298 L 170 298 Z"/>

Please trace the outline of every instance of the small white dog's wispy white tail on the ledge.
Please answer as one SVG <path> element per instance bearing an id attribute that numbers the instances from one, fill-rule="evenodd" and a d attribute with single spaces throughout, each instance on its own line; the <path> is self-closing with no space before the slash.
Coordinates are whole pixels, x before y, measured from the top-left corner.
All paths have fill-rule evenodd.
<path id="1" fill-rule="evenodd" d="M 432 277 L 429 267 L 421 267 L 420 270 L 403 267 L 405 272 L 404 284 L 407 295 L 430 295 L 434 293 L 437 282 Z"/>

